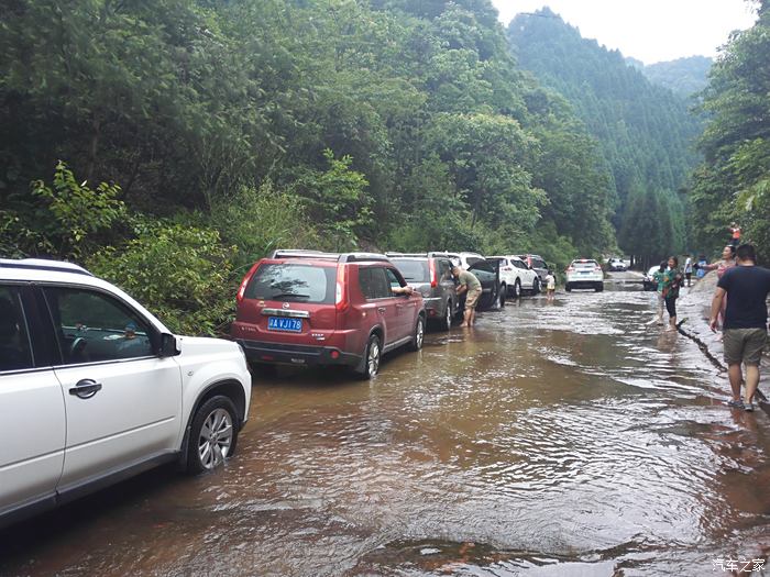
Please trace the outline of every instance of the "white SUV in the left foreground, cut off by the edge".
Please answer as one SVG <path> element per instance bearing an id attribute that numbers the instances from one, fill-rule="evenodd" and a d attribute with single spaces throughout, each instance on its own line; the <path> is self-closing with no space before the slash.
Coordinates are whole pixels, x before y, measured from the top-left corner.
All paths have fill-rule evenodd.
<path id="1" fill-rule="evenodd" d="M 0 526 L 161 463 L 221 465 L 250 399 L 238 344 L 175 336 L 76 265 L 0 259 Z"/>

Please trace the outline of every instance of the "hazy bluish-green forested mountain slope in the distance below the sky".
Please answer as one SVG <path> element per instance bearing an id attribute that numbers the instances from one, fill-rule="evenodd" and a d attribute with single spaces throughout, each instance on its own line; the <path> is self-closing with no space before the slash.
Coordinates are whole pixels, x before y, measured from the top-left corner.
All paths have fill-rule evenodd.
<path id="1" fill-rule="evenodd" d="M 549 9 L 519 14 L 507 32 L 520 65 L 563 95 L 601 143 L 612 167 L 620 247 L 647 260 L 684 249 L 680 190 L 697 163 L 701 132 L 686 101 Z"/>

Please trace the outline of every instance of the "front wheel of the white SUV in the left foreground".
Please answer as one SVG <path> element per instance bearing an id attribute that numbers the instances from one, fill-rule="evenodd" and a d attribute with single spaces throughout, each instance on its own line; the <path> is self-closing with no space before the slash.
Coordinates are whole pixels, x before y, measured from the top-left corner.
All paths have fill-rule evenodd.
<path id="1" fill-rule="evenodd" d="M 187 470 L 202 473 L 221 466 L 235 452 L 235 406 L 222 395 L 210 398 L 195 413 L 187 441 Z"/>

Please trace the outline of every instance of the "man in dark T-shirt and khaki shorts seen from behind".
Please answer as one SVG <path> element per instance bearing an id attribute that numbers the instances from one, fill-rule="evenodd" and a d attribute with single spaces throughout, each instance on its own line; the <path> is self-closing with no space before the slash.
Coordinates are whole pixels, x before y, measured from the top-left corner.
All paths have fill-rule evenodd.
<path id="1" fill-rule="evenodd" d="M 759 385 L 759 362 L 768 339 L 768 308 L 770 270 L 756 265 L 754 246 L 741 244 L 736 251 L 736 266 L 719 279 L 712 301 L 710 326 L 716 332 L 722 299 L 728 295 L 723 325 L 725 363 L 727 363 L 733 400 L 727 404 L 754 411 L 754 395 Z M 746 365 L 746 391 L 740 399 L 743 373 Z"/>

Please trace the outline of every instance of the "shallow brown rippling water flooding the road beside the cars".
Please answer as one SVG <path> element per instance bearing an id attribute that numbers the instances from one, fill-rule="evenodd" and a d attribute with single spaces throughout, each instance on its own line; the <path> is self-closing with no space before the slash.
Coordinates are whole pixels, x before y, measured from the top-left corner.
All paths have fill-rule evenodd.
<path id="1" fill-rule="evenodd" d="M 2 575 L 721 575 L 770 554 L 770 419 L 640 290 L 525 298 L 371 382 L 258 378 L 238 456 L 0 534 Z M 757 575 L 758 573 L 754 573 Z"/>

